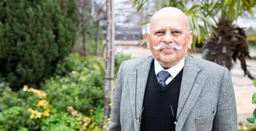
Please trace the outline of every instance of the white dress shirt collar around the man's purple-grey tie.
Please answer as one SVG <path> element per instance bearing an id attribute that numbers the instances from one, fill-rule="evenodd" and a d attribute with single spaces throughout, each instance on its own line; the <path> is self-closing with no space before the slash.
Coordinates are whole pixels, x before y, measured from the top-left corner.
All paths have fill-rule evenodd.
<path id="1" fill-rule="evenodd" d="M 155 72 L 156 72 L 156 78 L 159 82 L 159 77 L 158 77 L 158 73 L 162 70 L 164 71 L 168 71 L 171 76 L 169 78 L 167 78 L 167 80 L 165 81 L 166 85 L 172 81 L 172 79 L 181 71 L 181 69 L 184 67 L 184 63 L 185 63 L 185 57 L 183 59 L 181 59 L 176 65 L 174 65 L 173 67 L 165 70 L 163 69 L 163 67 L 161 66 L 161 64 L 155 59 L 154 65 L 155 65 Z"/>

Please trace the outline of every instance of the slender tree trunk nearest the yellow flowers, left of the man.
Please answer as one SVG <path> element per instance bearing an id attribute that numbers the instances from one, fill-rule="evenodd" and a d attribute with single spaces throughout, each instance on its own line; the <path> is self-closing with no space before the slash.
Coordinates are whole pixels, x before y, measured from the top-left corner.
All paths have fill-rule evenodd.
<path id="1" fill-rule="evenodd" d="M 107 27 L 106 27 L 106 64 L 104 76 L 104 116 L 103 127 L 106 126 L 109 117 L 110 103 L 110 79 L 111 79 L 111 0 L 106 0 Z M 103 128 L 104 130 L 104 128 Z"/>

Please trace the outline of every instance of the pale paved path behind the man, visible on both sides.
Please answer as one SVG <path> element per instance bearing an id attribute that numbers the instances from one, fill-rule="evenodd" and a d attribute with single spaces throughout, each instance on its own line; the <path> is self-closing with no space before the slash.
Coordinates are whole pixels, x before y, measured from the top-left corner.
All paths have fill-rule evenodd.
<path id="1" fill-rule="evenodd" d="M 115 50 L 119 53 L 130 54 L 132 57 L 148 57 L 152 55 L 150 50 L 142 46 L 116 46 Z M 199 53 L 192 53 L 191 55 L 201 58 L 201 54 Z M 256 60 L 248 59 L 246 63 L 250 66 L 248 70 L 251 74 L 256 76 Z M 246 121 L 246 118 L 252 117 L 252 113 L 256 108 L 252 104 L 252 95 L 256 92 L 256 87 L 253 86 L 252 80 L 244 77 L 239 60 L 233 64 L 230 73 L 237 103 L 238 123 L 247 125 L 249 123 Z"/>

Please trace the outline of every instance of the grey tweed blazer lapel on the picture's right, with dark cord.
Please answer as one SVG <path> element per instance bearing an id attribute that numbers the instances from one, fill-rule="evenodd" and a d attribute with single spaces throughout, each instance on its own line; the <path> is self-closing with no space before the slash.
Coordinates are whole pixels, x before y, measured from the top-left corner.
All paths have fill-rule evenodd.
<path id="1" fill-rule="evenodd" d="M 180 131 L 194 107 L 203 88 L 205 77 L 200 74 L 201 67 L 194 58 L 187 55 L 182 74 L 179 103 L 177 109 L 177 125 L 175 131 Z"/>

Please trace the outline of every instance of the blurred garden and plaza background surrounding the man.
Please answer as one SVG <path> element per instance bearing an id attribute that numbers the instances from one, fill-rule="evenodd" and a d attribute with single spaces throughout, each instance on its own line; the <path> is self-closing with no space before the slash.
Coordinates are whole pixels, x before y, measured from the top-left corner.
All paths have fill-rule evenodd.
<path id="1" fill-rule="evenodd" d="M 0 0 L 0 131 L 108 130 L 118 68 L 152 55 L 166 6 L 188 17 L 188 54 L 230 70 L 238 130 L 255 131 L 255 0 Z"/>

